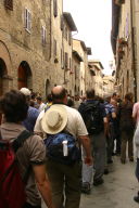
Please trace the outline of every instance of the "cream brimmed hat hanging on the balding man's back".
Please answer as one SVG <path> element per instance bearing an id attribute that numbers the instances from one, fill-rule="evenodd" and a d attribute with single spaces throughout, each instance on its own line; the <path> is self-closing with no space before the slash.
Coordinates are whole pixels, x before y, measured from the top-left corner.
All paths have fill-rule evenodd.
<path id="1" fill-rule="evenodd" d="M 49 134 L 61 132 L 67 123 L 67 112 L 64 105 L 54 104 L 43 115 L 42 130 Z"/>

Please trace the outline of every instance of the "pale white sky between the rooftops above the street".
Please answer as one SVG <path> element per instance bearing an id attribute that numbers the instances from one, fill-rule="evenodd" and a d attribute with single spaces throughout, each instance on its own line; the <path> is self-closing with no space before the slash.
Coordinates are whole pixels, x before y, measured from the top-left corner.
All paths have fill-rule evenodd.
<path id="1" fill-rule="evenodd" d="M 63 0 L 64 12 L 73 16 L 78 32 L 73 38 L 83 40 L 91 48 L 91 58 L 101 61 L 106 75 L 112 74 L 111 48 L 112 0 Z"/>

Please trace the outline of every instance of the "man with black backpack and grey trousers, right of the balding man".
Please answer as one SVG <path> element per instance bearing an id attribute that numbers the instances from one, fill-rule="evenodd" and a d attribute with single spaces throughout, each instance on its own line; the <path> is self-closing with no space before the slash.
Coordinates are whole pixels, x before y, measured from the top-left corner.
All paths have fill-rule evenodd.
<path id="1" fill-rule="evenodd" d="M 87 100 L 80 104 L 78 110 L 83 116 L 91 141 L 91 154 L 94 164 L 93 185 L 100 185 L 104 182 L 103 173 L 106 159 L 105 131 L 108 118 L 104 105 L 96 99 L 93 89 L 87 90 L 86 98 Z M 86 187 L 88 190 L 91 186 L 92 168 L 88 170 L 90 172 L 88 179 L 86 177 L 86 166 L 83 166 L 83 190 L 86 190 Z"/>

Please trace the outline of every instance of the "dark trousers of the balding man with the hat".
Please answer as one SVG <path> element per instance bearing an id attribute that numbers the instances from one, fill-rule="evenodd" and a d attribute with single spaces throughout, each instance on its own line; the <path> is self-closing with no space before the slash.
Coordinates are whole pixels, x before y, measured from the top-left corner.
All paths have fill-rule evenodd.
<path id="1" fill-rule="evenodd" d="M 52 199 L 56 208 L 79 208 L 81 191 L 81 164 L 73 166 L 47 158 L 47 172 L 52 187 Z"/>

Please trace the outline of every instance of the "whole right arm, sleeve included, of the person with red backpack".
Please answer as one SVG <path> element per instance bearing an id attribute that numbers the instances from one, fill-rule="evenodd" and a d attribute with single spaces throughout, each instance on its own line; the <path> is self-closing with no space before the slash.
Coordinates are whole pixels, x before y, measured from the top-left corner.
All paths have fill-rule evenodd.
<path id="1" fill-rule="evenodd" d="M 52 205 L 50 183 L 46 172 L 46 146 L 43 140 L 38 135 L 33 135 L 26 143 L 37 187 L 48 208 L 54 208 Z"/>

